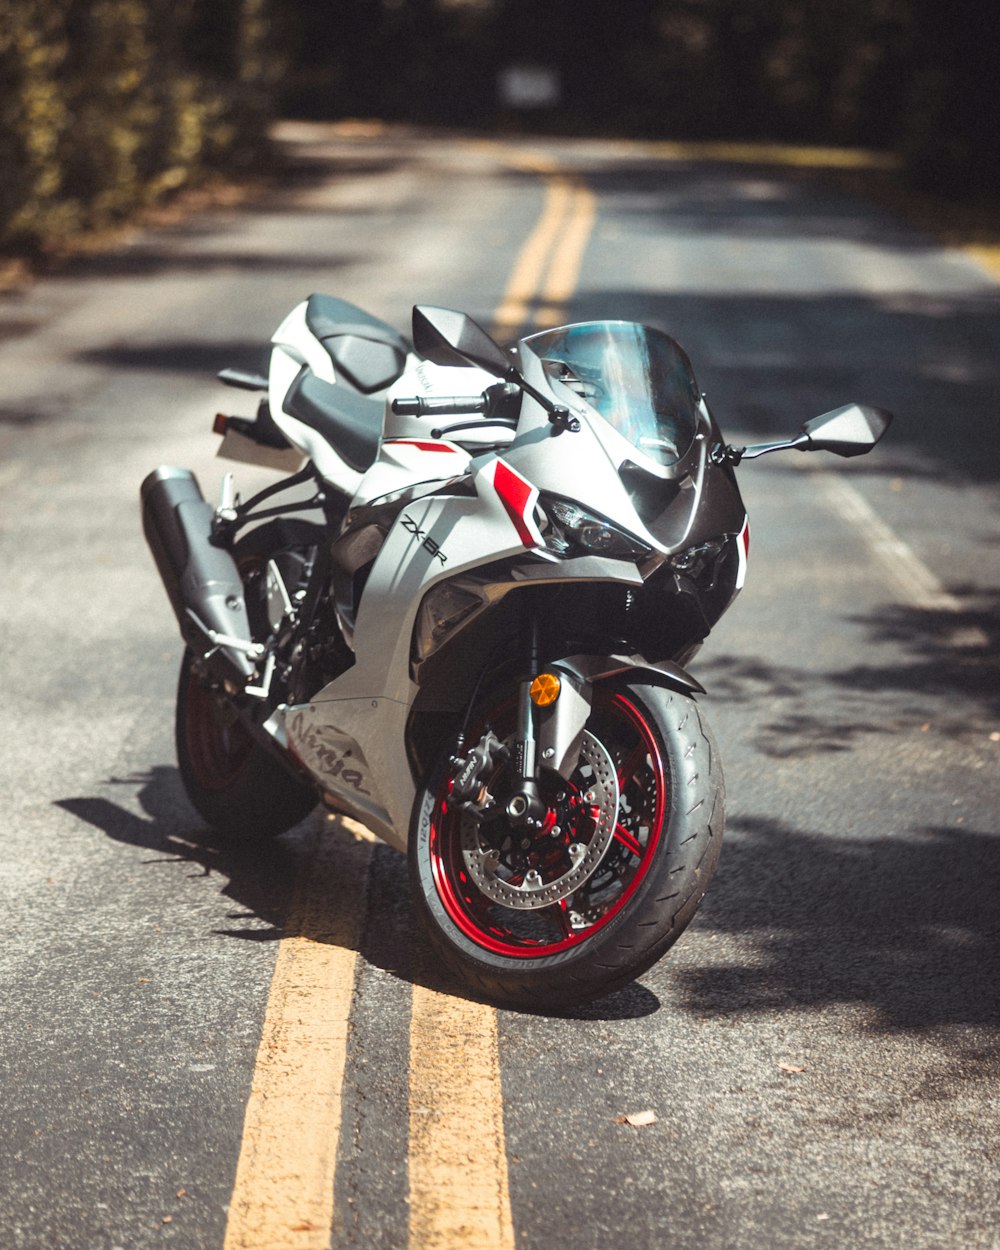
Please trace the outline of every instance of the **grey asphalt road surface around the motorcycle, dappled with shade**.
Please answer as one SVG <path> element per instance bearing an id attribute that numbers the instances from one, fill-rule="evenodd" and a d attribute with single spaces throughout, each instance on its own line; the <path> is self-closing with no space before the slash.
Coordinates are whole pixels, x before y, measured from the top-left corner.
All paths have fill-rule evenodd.
<path id="1" fill-rule="evenodd" d="M 281 194 L 0 302 L 0 1246 L 255 1244 L 231 1210 L 258 1200 L 248 1141 L 306 1152 L 309 1108 L 255 1138 L 245 1118 L 282 950 L 319 941 L 305 880 L 356 911 L 359 951 L 325 1214 L 261 1199 L 281 1245 L 996 1250 L 996 280 L 774 164 L 285 136 Z M 435 981 L 388 848 L 319 815 L 266 851 L 200 825 L 138 488 L 169 462 L 214 489 L 212 374 L 259 366 L 310 291 L 489 324 L 560 186 L 578 254 L 538 292 L 671 332 L 734 441 L 855 399 L 898 418 L 865 461 L 741 470 L 748 585 L 692 665 L 719 872 L 666 960 L 548 1018 Z M 280 1048 L 295 1066 L 329 1034 Z M 421 1116 L 452 1132 L 434 1166 Z M 495 1234 L 452 1219 L 476 1185 Z"/>

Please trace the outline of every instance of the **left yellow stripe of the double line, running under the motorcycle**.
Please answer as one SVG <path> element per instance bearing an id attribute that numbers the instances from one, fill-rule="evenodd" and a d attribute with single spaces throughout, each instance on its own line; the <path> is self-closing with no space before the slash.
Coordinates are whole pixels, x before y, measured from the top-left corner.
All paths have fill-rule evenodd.
<path id="1" fill-rule="evenodd" d="M 350 825 L 350 829 L 346 828 Z M 371 838 L 319 834 L 278 949 L 225 1250 L 326 1250 Z"/>

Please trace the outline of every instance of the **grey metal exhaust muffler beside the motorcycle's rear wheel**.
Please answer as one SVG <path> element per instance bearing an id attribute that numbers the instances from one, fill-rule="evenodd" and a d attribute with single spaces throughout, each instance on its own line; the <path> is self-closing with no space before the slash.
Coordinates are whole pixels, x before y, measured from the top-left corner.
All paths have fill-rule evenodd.
<path id="1" fill-rule="evenodd" d="M 236 561 L 211 541 L 214 509 L 190 469 L 155 469 L 140 494 L 142 531 L 184 640 L 220 676 L 242 684 L 264 649 L 250 639 Z"/>

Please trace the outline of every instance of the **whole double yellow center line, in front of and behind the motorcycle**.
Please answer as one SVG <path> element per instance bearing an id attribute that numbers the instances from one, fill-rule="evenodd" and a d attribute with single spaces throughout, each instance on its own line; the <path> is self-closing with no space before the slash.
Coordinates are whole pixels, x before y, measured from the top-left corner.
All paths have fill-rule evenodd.
<path id="1" fill-rule="evenodd" d="M 481 145 L 542 179 L 494 329 L 558 324 L 576 288 L 596 208 L 544 155 Z M 279 945 L 229 1208 L 225 1250 L 326 1250 L 342 1119 L 350 1014 L 371 835 L 324 821 Z M 409 1250 L 515 1250 L 496 1012 L 412 988 Z"/>

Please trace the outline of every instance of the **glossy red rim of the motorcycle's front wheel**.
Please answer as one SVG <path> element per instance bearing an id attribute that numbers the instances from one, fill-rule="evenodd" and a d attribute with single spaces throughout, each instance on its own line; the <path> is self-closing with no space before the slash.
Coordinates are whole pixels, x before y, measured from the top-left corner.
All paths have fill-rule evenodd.
<path id="1" fill-rule="evenodd" d="M 480 892 L 462 859 L 461 816 L 445 802 L 448 778 L 435 795 L 430 864 L 438 896 L 461 934 L 491 954 L 541 959 L 580 945 L 628 905 L 652 862 L 668 790 L 656 734 L 624 695 L 599 691 L 595 712 L 589 729 L 618 769 L 619 821 L 598 871 L 568 899 L 539 910 L 515 911 Z M 494 724 L 502 720 L 500 710 Z"/>

